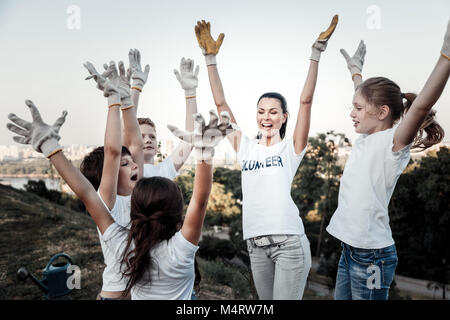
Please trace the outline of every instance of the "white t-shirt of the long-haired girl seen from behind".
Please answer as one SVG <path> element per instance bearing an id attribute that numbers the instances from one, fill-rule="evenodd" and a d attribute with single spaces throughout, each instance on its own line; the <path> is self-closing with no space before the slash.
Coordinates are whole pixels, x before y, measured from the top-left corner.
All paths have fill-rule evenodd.
<path id="1" fill-rule="evenodd" d="M 128 230 L 111 224 L 103 234 L 106 246 L 122 257 Z M 136 284 L 131 289 L 132 300 L 190 300 L 194 287 L 194 257 L 198 246 L 187 241 L 181 231 L 167 241 L 161 241 L 151 251 L 150 284 Z"/>

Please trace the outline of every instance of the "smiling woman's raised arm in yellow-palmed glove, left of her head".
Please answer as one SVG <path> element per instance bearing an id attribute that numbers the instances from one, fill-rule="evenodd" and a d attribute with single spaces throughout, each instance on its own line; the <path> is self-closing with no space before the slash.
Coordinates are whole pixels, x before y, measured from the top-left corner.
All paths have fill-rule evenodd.
<path id="1" fill-rule="evenodd" d="M 228 106 L 225 100 L 225 94 L 222 87 L 222 81 L 219 77 L 219 71 L 217 69 L 216 55 L 219 52 L 220 46 L 222 45 L 223 38 L 225 35 L 221 33 L 215 41 L 211 36 L 211 27 L 209 22 L 204 20 L 197 21 L 195 26 L 195 35 L 197 36 L 197 41 L 202 49 L 202 53 L 205 56 L 206 66 L 208 68 L 209 84 L 211 86 L 211 91 L 214 98 L 214 103 L 217 107 L 217 112 L 221 114 L 222 112 L 227 112 L 231 117 L 231 122 L 235 124 L 237 128 L 236 119 L 234 118 L 231 108 Z M 227 136 L 233 149 L 238 152 L 239 145 L 241 143 L 242 133 L 240 130 L 236 130 L 234 133 Z"/>

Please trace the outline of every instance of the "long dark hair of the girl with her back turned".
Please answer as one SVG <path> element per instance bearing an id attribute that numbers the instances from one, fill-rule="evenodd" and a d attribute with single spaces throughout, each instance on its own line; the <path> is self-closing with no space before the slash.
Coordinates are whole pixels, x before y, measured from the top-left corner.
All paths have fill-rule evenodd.
<path id="1" fill-rule="evenodd" d="M 150 283 L 154 263 L 150 251 L 179 230 L 183 208 L 183 194 L 175 182 L 151 177 L 136 183 L 131 194 L 131 228 L 121 262 L 125 266 L 123 275 L 128 278 L 124 297 L 138 282 Z"/>

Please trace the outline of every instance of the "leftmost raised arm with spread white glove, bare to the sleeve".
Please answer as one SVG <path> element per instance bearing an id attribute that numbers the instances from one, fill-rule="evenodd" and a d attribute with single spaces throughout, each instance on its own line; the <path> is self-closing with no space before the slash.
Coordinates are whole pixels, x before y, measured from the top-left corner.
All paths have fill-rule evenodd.
<path id="1" fill-rule="evenodd" d="M 50 159 L 58 173 L 66 181 L 69 187 L 83 201 L 86 209 L 97 224 L 103 234 L 114 222 L 107 208 L 95 192 L 89 181 L 76 169 L 72 163 L 64 156 L 61 146 L 58 144 L 59 129 L 65 121 L 67 112 L 49 126 L 41 118 L 38 109 L 30 100 L 25 101 L 30 108 L 33 122 L 27 122 L 14 114 L 8 118 L 15 124 L 8 123 L 7 127 L 19 136 L 13 137 L 14 141 L 22 144 L 31 144 L 37 152 L 43 153 Z"/>

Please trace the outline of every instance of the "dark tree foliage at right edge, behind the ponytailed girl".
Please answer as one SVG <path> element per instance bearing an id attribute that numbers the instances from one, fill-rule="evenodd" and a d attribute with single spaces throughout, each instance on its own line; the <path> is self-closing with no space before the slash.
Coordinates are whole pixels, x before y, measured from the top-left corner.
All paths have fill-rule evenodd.
<path id="1" fill-rule="evenodd" d="M 450 283 L 450 149 L 441 148 L 417 164 L 400 176 L 389 205 L 397 270 Z"/>

